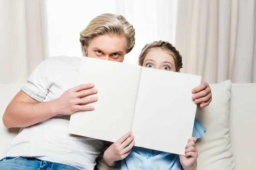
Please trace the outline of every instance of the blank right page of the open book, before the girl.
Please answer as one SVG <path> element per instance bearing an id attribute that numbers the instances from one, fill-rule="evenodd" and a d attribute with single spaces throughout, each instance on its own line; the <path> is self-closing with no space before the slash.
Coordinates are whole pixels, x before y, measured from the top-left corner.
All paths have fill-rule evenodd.
<path id="1" fill-rule="evenodd" d="M 192 137 L 201 76 L 142 68 L 132 132 L 135 145 L 184 155 Z"/>

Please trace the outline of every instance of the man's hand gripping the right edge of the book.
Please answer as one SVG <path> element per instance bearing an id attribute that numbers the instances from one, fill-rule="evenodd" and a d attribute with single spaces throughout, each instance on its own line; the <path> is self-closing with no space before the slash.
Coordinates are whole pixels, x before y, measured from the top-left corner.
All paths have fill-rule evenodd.
<path id="1" fill-rule="evenodd" d="M 192 90 L 192 99 L 196 104 L 202 103 L 201 108 L 204 108 L 212 101 L 212 91 L 207 82 L 201 82 L 196 88 Z"/>

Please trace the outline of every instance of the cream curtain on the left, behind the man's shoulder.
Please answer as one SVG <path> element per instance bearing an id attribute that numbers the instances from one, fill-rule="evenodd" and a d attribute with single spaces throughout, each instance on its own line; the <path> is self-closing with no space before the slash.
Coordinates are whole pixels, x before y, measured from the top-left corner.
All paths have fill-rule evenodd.
<path id="1" fill-rule="evenodd" d="M 43 0 L 0 0 L 0 84 L 24 83 L 48 56 Z"/>

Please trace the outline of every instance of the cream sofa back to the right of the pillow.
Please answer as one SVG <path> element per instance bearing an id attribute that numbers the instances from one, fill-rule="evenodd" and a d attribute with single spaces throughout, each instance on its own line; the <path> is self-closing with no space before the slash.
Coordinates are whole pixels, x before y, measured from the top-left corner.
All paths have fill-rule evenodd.
<path id="1" fill-rule="evenodd" d="M 237 170 L 252 170 L 255 168 L 255 96 L 256 83 L 232 85 L 230 99 L 230 139 Z"/>

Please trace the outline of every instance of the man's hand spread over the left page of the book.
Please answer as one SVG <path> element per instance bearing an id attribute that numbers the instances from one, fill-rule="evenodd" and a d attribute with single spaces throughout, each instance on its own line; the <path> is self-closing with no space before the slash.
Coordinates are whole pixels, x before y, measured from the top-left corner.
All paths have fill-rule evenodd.
<path id="1" fill-rule="evenodd" d="M 70 115 L 76 111 L 92 111 L 93 106 L 87 106 L 85 104 L 96 102 L 97 97 L 86 97 L 98 92 L 97 89 L 93 89 L 94 84 L 82 84 L 71 88 L 64 92 L 58 99 L 54 100 L 53 108 L 56 114 Z"/>

